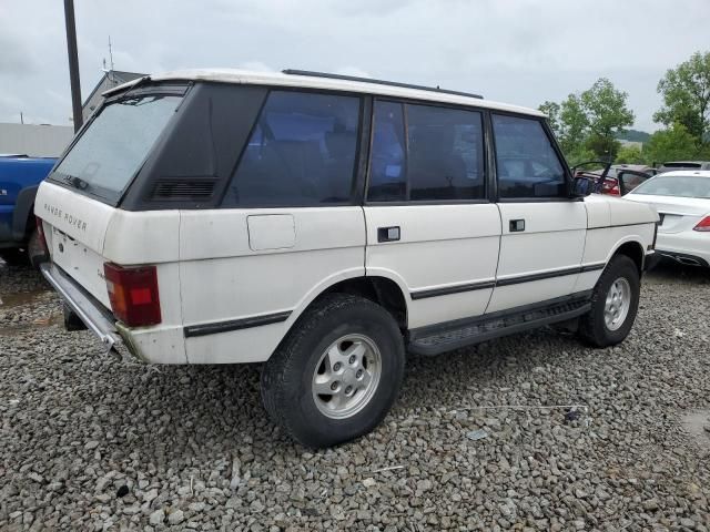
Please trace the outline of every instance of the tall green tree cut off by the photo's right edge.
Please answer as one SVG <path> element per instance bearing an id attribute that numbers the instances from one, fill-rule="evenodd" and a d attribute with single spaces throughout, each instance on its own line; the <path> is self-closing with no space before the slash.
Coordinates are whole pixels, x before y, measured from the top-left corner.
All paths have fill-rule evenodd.
<path id="1" fill-rule="evenodd" d="M 710 142 L 710 52 L 696 52 L 668 70 L 658 82 L 658 92 L 663 106 L 653 114 L 656 122 L 667 127 L 678 122 L 697 142 Z"/>

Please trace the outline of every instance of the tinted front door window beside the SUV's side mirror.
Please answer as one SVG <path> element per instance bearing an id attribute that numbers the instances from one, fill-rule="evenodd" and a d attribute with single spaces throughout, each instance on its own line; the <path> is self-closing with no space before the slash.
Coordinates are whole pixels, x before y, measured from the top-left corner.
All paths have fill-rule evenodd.
<path id="1" fill-rule="evenodd" d="M 537 120 L 493 115 L 500 197 L 559 197 L 565 171 Z"/>

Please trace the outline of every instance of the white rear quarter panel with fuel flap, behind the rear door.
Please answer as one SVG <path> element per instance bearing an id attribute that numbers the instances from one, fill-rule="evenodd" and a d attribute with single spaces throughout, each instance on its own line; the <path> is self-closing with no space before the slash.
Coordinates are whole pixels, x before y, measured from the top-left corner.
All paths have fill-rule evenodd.
<path id="1" fill-rule="evenodd" d="M 258 246 L 274 248 L 254 250 L 255 232 Z M 280 324 L 186 338 L 191 364 L 266 360 L 317 295 L 365 275 L 362 207 L 183 211 L 180 241 L 185 326 L 292 313 Z"/>

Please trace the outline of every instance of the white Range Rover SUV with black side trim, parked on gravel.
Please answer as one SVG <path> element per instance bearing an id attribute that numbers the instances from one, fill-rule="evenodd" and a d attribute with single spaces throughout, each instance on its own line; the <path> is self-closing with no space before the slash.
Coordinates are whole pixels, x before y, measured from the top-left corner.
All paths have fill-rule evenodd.
<path id="1" fill-rule="evenodd" d="M 407 350 L 633 324 L 657 215 L 579 192 L 537 111 L 300 71 L 106 96 L 36 202 L 68 326 L 149 362 L 265 362 L 306 446 L 376 427 Z"/>

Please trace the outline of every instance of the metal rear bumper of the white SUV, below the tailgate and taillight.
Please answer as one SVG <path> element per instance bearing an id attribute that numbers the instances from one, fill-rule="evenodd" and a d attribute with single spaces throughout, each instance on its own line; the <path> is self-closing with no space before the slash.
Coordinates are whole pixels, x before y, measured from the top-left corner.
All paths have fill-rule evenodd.
<path id="1" fill-rule="evenodd" d="M 71 277 L 53 263 L 40 265 L 40 270 L 64 303 L 89 327 L 105 346 L 106 351 L 120 344 L 121 336 L 115 319 L 101 304 L 87 294 Z"/>

